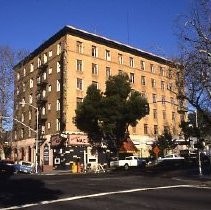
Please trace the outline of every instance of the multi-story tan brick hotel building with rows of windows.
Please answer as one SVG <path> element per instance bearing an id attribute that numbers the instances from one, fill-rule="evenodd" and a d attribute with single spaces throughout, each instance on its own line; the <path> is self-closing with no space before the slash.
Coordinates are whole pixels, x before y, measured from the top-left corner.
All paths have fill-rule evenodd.
<path id="1" fill-rule="evenodd" d="M 73 119 L 87 87 L 94 83 L 104 91 L 109 76 L 121 72 L 129 75 L 132 88 L 150 104 L 150 114 L 130 128 L 132 140 L 145 156 L 146 145 L 164 129 L 175 136 L 180 132 L 177 71 L 174 63 L 163 57 L 65 26 L 15 66 L 14 118 L 21 123 L 16 120 L 14 125 L 14 157 L 34 161 L 39 130 L 40 159 L 52 166 L 57 160 L 53 160 L 50 137 L 68 133 L 71 139 L 80 134 Z M 82 136 L 76 139 L 85 141 Z"/>

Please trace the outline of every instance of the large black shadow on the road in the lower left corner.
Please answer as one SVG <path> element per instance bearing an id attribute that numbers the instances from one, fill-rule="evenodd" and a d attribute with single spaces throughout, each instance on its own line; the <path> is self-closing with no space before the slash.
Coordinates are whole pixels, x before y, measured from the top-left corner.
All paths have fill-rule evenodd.
<path id="1" fill-rule="evenodd" d="M 0 209 L 2 207 L 57 199 L 61 191 L 47 189 L 44 182 L 32 178 L 14 179 L 0 176 Z"/>

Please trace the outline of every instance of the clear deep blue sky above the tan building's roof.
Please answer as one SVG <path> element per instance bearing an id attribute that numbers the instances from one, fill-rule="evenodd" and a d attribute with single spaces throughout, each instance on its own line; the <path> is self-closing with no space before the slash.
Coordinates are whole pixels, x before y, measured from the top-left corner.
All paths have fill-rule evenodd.
<path id="1" fill-rule="evenodd" d="M 0 0 L 0 45 L 33 51 L 65 25 L 166 57 L 191 0 Z"/>

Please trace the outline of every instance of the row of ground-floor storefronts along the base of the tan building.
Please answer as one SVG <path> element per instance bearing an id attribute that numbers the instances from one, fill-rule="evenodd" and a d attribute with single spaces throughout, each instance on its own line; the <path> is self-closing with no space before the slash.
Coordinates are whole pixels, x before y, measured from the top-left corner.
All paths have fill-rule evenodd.
<path id="1" fill-rule="evenodd" d="M 132 141 L 126 142 L 129 145 L 125 144 L 122 152 L 127 153 L 127 155 L 135 154 L 140 157 L 148 157 L 152 141 L 147 138 L 143 140 L 143 138 L 135 135 L 131 136 L 131 139 Z M 14 161 L 35 162 L 35 141 L 32 138 L 13 142 L 11 158 Z M 94 170 L 99 164 L 108 167 L 111 156 L 111 152 L 106 148 L 103 148 L 101 152 L 93 151 L 88 143 L 87 135 L 71 133 L 45 136 L 45 141 L 39 144 L 37 160 L 43 171 L 53 169 L 74 170 L 77 166 L 77 172 L 80 172 L 87 167 Z"/>

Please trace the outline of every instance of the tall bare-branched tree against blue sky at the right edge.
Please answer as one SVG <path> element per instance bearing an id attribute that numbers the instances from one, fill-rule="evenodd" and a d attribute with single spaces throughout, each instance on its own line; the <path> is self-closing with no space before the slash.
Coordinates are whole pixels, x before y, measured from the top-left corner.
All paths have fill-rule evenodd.
<path id="1" fill-rule="evenodd" d="M 185 87 L 179 98 L 195 107 L 200 116 L 211 125 L 211 0 L 195 0 L 188 16 L 181 18 L 180 63 Z"/>

